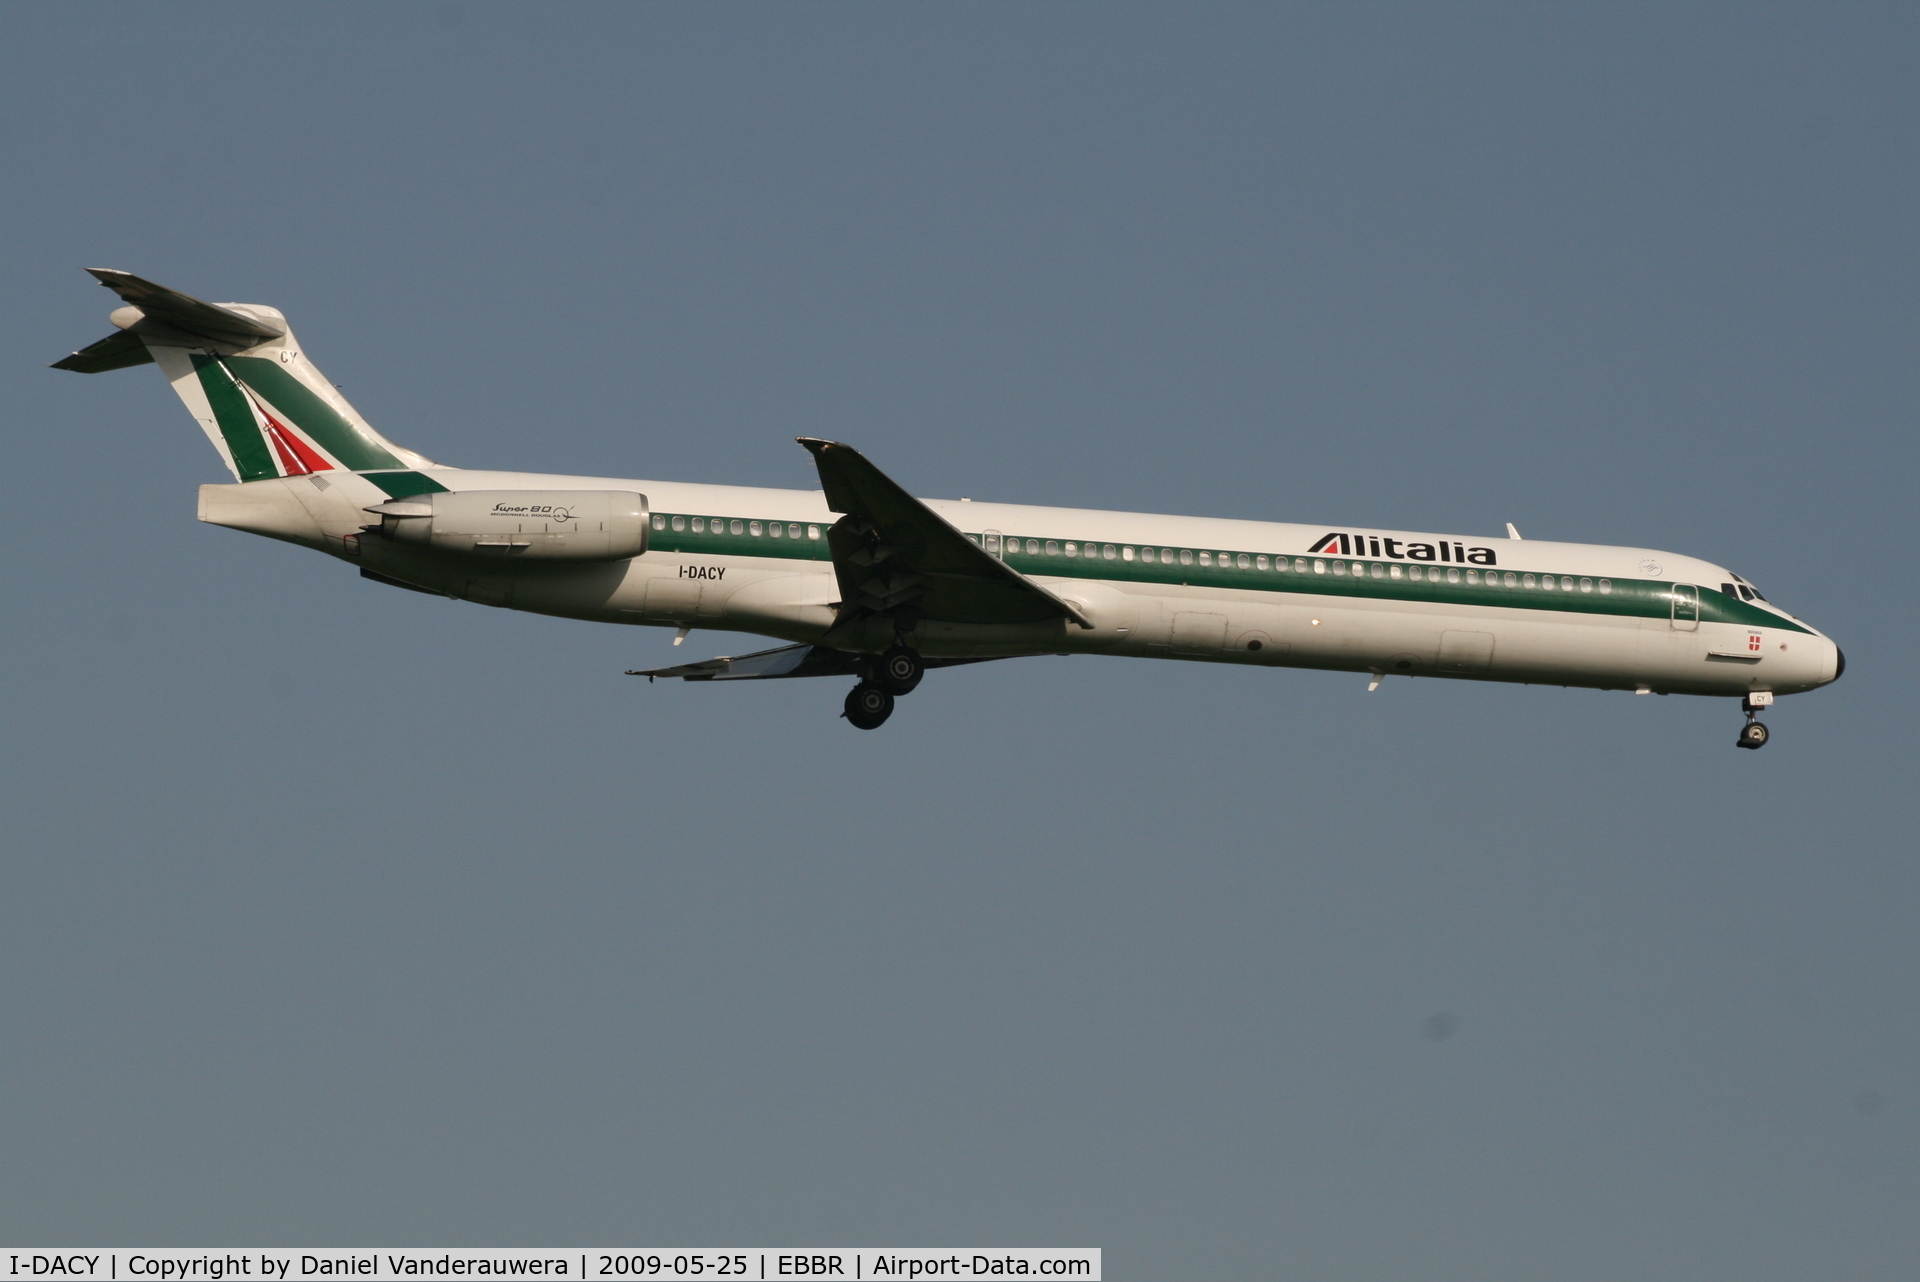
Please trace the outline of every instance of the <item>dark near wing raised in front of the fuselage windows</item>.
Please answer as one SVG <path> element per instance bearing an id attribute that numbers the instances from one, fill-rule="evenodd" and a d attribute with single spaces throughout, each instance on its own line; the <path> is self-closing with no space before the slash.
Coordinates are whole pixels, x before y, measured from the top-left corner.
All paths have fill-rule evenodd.
<path id="1" fill-rule="evenodd" d="M 1092 628 L 1071 605 L 900 489 L 860 451 L 806 436 L 799 441 L 814 455 L 828 507 L 845 512 L 828 532 L 843 624 L 906 614 L 958 624 L 1066 618 Z"/>

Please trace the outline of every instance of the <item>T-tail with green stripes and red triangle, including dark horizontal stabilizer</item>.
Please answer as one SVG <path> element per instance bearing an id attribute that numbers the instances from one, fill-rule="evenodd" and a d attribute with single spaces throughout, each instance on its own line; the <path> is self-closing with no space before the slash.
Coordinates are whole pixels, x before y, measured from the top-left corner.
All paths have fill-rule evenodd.
<path id="1" fill-rule="evenodd" d="M 127 301 L 108 317 L 119 332 L 54 368 L 157 365 L 236 480 L 434 466 L 359 416 L 278 309 L 204 303 L 123 271 L 86 271 Z"/>

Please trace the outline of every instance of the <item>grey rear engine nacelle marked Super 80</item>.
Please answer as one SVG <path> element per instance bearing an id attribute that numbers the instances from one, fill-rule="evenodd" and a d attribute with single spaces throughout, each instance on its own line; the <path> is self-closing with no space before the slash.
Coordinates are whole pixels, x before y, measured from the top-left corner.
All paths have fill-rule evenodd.
<path id="1" fill-rule="evenodd" d="M 622 489 L 463 489 L 367 509 L 394 543 L 515 560 L 626 560 L 647 551 L 647 499 Z"/>

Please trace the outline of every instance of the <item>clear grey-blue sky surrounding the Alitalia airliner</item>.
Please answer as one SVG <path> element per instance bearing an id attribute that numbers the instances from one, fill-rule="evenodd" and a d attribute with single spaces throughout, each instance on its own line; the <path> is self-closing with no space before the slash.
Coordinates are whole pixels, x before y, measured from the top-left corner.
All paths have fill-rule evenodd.
<path id="1" fill-rule="evenodd" d="M 0 1236 L 1910 1278 L 1912 6 L 8 6 Z M 1730 700 L 645 685 L 200 526 L 119 267 L 461 466 L 1651 545 Z"/>

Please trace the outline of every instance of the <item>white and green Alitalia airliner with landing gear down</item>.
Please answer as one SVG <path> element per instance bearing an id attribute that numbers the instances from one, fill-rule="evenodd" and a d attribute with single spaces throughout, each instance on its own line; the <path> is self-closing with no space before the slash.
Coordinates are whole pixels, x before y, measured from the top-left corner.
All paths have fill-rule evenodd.
<path id="1" fill-rule="evenodd" d="M 1839 679 L 1839 647 L 1678 553 L 1359 526 L 916 499 L 839 441 L 820 489 L 453 468 L 388 441 L 286 317 L 88 269 L 115 332 L 54 368 L 157 365 L 234 476 L 200 520 L 311 547 L 388 587 L 776 649 L 628 676 L 854 677 L 876 729 L 929 668 L 1121 654 L 1740 699 Z"/>

